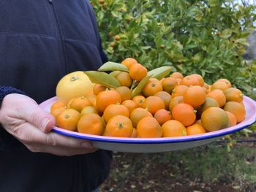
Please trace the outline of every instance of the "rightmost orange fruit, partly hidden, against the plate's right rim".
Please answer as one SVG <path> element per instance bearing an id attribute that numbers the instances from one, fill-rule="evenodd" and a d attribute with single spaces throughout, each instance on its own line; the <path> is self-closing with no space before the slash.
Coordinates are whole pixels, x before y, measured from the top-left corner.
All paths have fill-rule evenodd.
<path id="1" fill-rule="evenodd" d="M 228 101 L 223 109 L 225 111 L 232 112 L 236 116 L 237 123 L 240 123 L 245 118 L 245 108 L 236 101 Z"/>

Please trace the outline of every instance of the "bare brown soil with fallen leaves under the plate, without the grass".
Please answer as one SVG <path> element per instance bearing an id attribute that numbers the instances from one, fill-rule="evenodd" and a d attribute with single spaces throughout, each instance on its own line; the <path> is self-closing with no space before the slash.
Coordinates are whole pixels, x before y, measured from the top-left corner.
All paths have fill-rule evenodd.
<path id="1" fill-rule="evenodd" d="M 256 135 L 239 139 L 255 140 Z M 224 144 L 222 144 L 224 145 Z M 256 150 L 256 142 L 238 142 L 234 147 L 246 146 Z M 99 191 L 256 191 L 255 184 L 233 183 L 223 178 L 214 183 L 204 183 L 201 178 L 192 177 L 187 172 L 177 172 L 173 165 L 161 163 L 161 153 L 113 153 L 110 176 Z M 255 157 L 253 157 L 255 158 Z M 182 162 L 178 162 L 180 166 Z"/>

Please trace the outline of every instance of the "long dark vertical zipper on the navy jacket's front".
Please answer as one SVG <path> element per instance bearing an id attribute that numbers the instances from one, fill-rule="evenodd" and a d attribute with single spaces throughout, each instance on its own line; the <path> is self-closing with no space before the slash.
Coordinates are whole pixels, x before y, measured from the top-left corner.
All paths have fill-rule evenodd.
<path id="1" fill-rule="evenodd" d="M 64 74 L 67 74 L 68 67 L 67 67 L 67 62 L 65 59 L 64 44 L 62 42 L 63 36 L 61 34 L 61 28 L 59 26 L 58 18 L 56 15 L 56 10 L 54 9 L 53 0 L 48 0 L 48 2 L 50 4 L 51 18 L 53 18 L 52 21 L 53 21 L 53 25 L 55 28 L 56 40 L 57 40 L 58 47 L 59 47 L 59 58 L 60 58 L 61 64 L 64 64 Z"/>

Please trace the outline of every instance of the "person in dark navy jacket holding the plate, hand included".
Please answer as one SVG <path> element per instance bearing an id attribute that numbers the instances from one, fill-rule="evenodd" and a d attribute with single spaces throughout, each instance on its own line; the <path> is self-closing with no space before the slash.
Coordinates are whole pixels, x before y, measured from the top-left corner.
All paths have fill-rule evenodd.
<path id="1" fill-rule="evenodd" d="M 50 131 L 39 103 L 65 74 L 107 61 L 87 0 L 0 2 L 0 191 L 94 191 L 112 154 Z"/>

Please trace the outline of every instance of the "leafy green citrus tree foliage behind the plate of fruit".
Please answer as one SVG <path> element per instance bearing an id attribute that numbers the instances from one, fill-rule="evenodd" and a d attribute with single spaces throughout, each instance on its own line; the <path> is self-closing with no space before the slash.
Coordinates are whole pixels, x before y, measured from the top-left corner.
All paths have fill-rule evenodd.
<path id="1" fill-rule="evenodd" d="M 222 0 L 91 0 L 110 61 L 136 58 L 148 69 L 173 66 L 227 78 L 253 96 L 256 61 L 241 57 L 255 21 L 255 7 Z"/>

